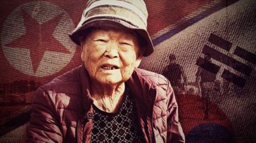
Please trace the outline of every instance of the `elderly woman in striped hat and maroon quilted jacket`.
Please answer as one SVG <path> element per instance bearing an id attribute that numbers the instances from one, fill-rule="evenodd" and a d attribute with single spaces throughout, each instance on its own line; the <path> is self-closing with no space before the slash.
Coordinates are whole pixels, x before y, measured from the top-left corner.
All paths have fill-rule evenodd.
<path id="1" fill-rule="evenodd" d="M 70 38 L 83 64 L 37 89 L 28 142 L 184 142 L 170 82 L 137 68 L 153 52 L 143 1 L 88 1 Z"/>

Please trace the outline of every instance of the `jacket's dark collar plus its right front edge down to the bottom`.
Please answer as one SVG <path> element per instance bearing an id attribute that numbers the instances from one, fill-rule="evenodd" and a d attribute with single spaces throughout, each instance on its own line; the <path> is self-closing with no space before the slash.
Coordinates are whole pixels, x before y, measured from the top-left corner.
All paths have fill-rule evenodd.
<path id="1" fill-rule="evenodd" d="M 84 67 L 84 64 L 81 65 L 80 77 L 83 91 L 83 118 L 85 119 L 86 117 L 88 117 L 88 114 L 92 112 L 93 100 L 90 94 L 90 77 Z M 143 76 L 140 75 L 140 71 L 138 69 L 134 70 L 131 78 L 127 80 L 126 84 L 129 87 L 129 94 L 131 94 L 134 98 L 134 103 L 141 125 L 141 130 L 144 134 L 144 138 L 146 142 L 154 142 L 152 141 L 153 131 L 151 118 L 154 100 L 156 98 L 156 89 L 154 89 L 154 87 L 149 84 L 147 78 L 143 78 Z"/>

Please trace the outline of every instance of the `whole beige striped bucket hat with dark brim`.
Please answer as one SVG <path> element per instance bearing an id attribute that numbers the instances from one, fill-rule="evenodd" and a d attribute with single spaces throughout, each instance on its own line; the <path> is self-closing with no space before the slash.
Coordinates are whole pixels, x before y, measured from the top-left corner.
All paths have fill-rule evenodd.
<path id="1" fill-rule="evenodd" d="M 143 56 L 149 56 L 154 52 L 154 46 L 147 32 L 147 18 L 147 7 L 143 0 L 89 0 L 79 24 L 68 35 L 80 45 L 79 37 L 89 27 L 125 27 L 136 31 L 143 38 Z"/>

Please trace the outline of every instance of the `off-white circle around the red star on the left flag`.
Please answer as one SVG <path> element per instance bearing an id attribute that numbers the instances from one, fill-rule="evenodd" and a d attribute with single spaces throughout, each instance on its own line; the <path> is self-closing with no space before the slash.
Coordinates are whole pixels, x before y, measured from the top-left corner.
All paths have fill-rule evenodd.
<path id="1" fill-rule="evenodd" d="M 47 28 L 32 29 L 33 26 L 31 26 L 31 29 L 28 29 L 28 24 L 26 25 L 26 19 L 24 19 L 24 12 L 28 13 L 29 17 L 40 25 L 40 28 L 42 28 L 42 24 L 45 24 L 56 17 L 60 17 L 51 36 L 52 39 L 58 41 L 62 49 L 67 52 L 58 52 L 56 49 L 52 50 L 54 49 L 54 45 L 52 45 L 52 47 L 48 47 L 42 54 L 42 59 L 37 59 L 39 61 L 35 68 L 33 67 L 32 59 L 36 58 L 36 55 L 31 56 L 31 49 L 24 48 L 26 47 L 26 42 L 21 43 L 20 45 L 15 45 L 15 47 L 8 46 L 11 42 L 28 34 L 29 30 L 40 30 L 40 35 L 38 35 L 39 39 L 44 37 L 42 36 L 42 33 L 47 33 L 49 30 Z M 76 52 L 76 45 L 70 40 L 67 34 L 72 31 L 74 27 L 74 23 L 68 13 L 54 3 L 49 3 L 47 1 L 24 3 L 15 8 L 3 23 L 1 31 L 3 54 L 15 69 L 26 75 L 45 77 L 60 72 L 60 70 L 67 66 Z M 42 42 L 40 44 L 41 47 L 44 46 L 42 45 Z"/>

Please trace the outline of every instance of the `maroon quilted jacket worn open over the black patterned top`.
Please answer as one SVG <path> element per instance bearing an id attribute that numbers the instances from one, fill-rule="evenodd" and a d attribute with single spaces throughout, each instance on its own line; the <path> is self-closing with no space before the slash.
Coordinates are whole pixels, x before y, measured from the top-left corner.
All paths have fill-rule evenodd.
<path id="1" fill-rule="evenodd" d="M 184 142 L 170 82 L 135 69 L 129 86 L 145 142 Z M 90 142 L 92 98 L 84 65 L 39 87 L 31 107 L 28 142 Z"/>

